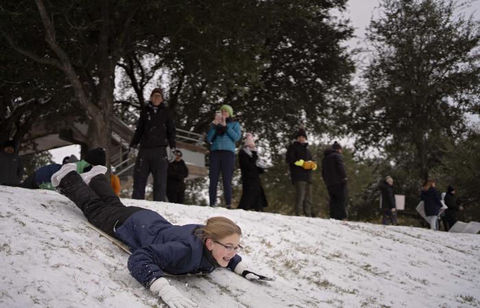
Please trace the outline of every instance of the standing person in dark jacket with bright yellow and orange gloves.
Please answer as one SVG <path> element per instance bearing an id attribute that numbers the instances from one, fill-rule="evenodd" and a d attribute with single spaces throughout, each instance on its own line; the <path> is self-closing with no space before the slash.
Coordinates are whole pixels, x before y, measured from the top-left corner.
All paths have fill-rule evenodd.
<path id="1" fill-rule="evenodd" d="M 291 183 L 295 186 L 295 215 L 312 216 L 312 170 L 317 164 L 312 161 L 312 155 L 307 148 L 307 132 L 300 128 L 295 134 L 295 140 L 287 149 L 286 159 L 289 164 Z"/>

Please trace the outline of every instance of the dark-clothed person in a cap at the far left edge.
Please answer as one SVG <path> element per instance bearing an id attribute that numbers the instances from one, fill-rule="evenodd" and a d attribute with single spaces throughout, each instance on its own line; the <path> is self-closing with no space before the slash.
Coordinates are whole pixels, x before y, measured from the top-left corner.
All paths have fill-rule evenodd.
<path id="1" fill-rule="evenodd" d="M 15 153 L 15 142 L 6 141 L 0 151 L 0 184 L 17 185 L 23 175 L 23 164 L 19 154 Z"/>

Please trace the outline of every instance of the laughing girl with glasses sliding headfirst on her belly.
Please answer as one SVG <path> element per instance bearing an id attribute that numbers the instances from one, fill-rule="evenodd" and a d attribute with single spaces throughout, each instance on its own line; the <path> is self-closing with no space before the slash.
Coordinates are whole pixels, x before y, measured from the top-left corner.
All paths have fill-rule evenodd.
<path id="1" fill-rule="evenodd" d="M 197 307 L 165 279 L 167 274 L 210 273 L 230 268 L 246 279 L 268 279 L 247 270 L 237 255 L 241 229 L 225 217 L 202 224 L 173 225 L 156 211 L 126 207 L 108 183 L 104 166 L 79 175 L 75 164 L 65 164 L 51 183 L 67 196 L 95 227 L 128 245 L 128 270 L 169 307 Z"/>

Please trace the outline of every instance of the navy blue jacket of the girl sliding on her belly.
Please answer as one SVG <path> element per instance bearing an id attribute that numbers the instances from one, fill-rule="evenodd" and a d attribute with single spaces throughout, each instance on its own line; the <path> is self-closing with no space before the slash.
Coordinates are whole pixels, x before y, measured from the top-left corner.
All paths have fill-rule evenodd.
<path id="1" fill-rule="evenodd" d="M 115 230 L 117 237 L 132 251 L 128 270 L 143 286 L 149 286 L 168 274 L 213 272 L 215 261 L 204 248 L 195 230 L 202 224 L 173 225 L 156 211 L 136 211 Z M 228 263 L 235 269 L 241 257 L 235 255 Z"/>

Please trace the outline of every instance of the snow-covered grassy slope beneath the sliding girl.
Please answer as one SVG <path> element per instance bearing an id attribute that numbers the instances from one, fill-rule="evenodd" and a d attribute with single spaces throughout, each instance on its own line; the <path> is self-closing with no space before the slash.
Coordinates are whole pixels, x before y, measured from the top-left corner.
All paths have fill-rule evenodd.
<path id="1" fill-rule="evenodd" d="M 480 235 L 123 201 L 174 224 L 226 216 L 243 231 L 243 260 L 276 277 L 169 278 L 199 307 L 480 307 Z M 0 186 L 0 307 L 163 306 L 85 221 L 56 192 Z"/>

